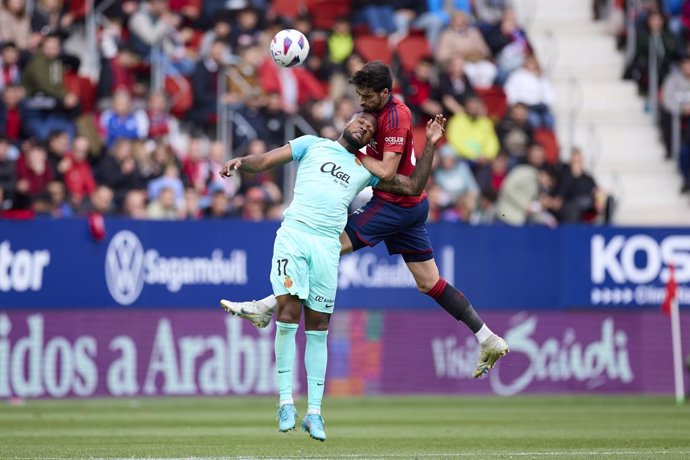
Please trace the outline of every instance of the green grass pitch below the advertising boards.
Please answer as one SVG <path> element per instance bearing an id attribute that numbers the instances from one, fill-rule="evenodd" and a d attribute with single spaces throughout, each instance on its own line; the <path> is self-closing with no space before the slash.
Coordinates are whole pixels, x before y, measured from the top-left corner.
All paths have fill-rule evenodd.
<path id="1" fill-rule="evenodd" d="M 690 407 L 670 397 L 329 397 L 325 443 L 279 433 L 275 410 L 255 397 L 3 403 L 0 458 L 690 458 Z"/>

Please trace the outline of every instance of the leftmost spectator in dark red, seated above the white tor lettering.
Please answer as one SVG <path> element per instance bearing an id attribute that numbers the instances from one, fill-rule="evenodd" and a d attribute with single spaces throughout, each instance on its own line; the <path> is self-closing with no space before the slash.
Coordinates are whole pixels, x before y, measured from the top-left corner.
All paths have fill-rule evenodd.
<path id="1" fill-rule="evenodd" d="M 34 198 L 46 192 L 53 172 L 48 164 L 48 152 L 42 144 L 31 144 L 17 160 L 17 199 L 15 207 L 28 209 Z"/>

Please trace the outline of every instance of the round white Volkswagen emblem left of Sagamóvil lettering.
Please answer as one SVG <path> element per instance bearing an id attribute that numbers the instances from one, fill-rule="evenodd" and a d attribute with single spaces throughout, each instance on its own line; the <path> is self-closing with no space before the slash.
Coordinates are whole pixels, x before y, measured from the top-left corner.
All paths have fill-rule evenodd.
<path id="1" fill-rule="evenodd" d="M 134 303 L 144 288 L 144 248 L 129 230 L 115 234 L 105 255 L 105 281 L 120 305 Z"/>

